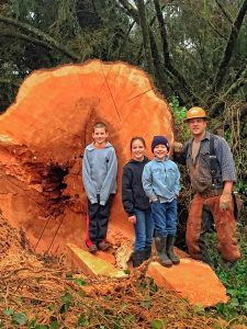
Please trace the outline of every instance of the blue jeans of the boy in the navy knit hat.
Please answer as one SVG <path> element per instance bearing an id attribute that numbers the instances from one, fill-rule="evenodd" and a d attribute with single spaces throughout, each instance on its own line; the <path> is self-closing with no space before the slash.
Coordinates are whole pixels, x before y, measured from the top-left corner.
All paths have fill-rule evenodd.
<path id="1" fill-rule="evenodd" d="M 160 203 L 151 202 L 151 217 L 155 223 L 155 236 L 176 236 L 177 231 L 177 200 Z"/>

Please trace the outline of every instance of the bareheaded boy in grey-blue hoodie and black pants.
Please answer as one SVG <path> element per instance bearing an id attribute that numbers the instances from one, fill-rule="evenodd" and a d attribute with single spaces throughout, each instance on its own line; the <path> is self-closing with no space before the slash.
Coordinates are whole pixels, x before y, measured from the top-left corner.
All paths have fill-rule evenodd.
<path id="1" fill-rule="evenodd" d="M 108 222 L 111 211 L 112 194 L 116 192 L 117 161 L 104 123 L 93 125 L 93 141 L 85 149 L 82 160 L 82 181 L 88 196 L 88 239 L 90 252 L 108 250 Z"/>

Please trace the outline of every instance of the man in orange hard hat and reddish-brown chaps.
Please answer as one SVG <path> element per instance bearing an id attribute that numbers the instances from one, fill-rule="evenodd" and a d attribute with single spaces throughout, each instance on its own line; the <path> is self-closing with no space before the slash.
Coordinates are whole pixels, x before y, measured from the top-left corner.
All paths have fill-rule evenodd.
<path id="1" fill-rule="evenodd" d="M 176 156 L 180 163 L 187 164 L 195 192 L 189 211 L 186 239 L 192 258 L 213 265 L 204 235 L 214 223 L 217 249 L 231 265 L 240 258 L 233 202 L 235 164 L 226 140 L 206 132 L 207 118 L 202 107 L 191 107 L 187 112 L 186 122 L 193 138 L 187 141 L 180 156 Z M 179 151 L 178 146 L 177 149 L 175 147 L 176 151 Z"/>

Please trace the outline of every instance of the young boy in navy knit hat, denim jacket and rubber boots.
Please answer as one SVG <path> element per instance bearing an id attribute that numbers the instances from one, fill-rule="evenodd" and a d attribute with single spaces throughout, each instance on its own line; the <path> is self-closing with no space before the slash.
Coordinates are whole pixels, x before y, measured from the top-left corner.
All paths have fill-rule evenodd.
<path id="1" fill-rule="evenodd" d="M 160 263 L 169 268 L 172 263 L 180 262 L 173 253 L 180 173 L 177 164 L 169 160 L 169 143 L 166 137 L 155 136 L 151 151 L 155 159 L 144 167 L 143 188 L 150 200 L 156 250 Z"/>

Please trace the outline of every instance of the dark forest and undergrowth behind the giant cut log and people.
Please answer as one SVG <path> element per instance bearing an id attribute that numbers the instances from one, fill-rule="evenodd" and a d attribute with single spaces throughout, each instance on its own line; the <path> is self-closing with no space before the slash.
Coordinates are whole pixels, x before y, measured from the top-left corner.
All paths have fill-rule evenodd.
<path id="1" fill-rule="evenodd" d="M 235 272 L 216 268 L 232 297 L 218 309 L 226 317 L 247 314 L 246 12 L 247 0 L 0 0 L 1 112 L 33 70 L 91 58 L 147 71 L 171 105 L 177 140 L 189 136 L 187 109 L 207 109 L 210 129 L 232 147 L 245 202 L 243 260 Z"/>

